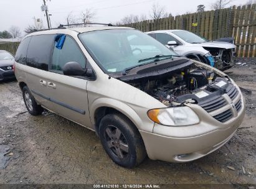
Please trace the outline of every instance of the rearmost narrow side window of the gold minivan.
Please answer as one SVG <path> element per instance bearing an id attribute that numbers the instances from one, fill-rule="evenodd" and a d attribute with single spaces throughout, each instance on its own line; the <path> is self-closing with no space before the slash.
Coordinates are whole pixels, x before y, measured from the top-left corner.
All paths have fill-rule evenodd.
<path id="1" fill-rule="evenodd" d="M 31 37 L 26 37 L 24 40 L 22 40 L 21 44 L 19 44 L 19 47 L 15 55 L 16 62 L 26 64 L 27 47 L 29 46 L 30 40 Z"/>

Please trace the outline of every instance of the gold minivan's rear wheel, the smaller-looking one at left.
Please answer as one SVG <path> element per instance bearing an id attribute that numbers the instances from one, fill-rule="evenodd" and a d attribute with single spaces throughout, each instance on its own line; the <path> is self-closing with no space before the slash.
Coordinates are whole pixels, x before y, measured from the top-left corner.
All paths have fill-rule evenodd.
<path id="1" fill-rule="evenodd" d="M 27 86 L 22 88 L 22 96 L 24 99 L 24 103 L 26 105 L 27 111 L 33 116 L 37 116 L 42 114 L 44 108 L 36 103 L 36 99 L 31 94 L 31 91 Z"/>

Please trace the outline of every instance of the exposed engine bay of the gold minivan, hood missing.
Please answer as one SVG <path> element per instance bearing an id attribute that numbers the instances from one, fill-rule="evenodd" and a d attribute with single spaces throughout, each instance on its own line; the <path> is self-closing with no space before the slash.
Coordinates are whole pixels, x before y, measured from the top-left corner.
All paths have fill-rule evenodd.
<path id="1" fill-rule="evenodd" d="M 201 103 L 207 97 L 225 93 L 221 88 L 227 83 L 225 78 L 216 75 L 214 71 L 197 65 L 189 65 L 158 78 L 129 82 L 166 106 L 185 102 Z"/>

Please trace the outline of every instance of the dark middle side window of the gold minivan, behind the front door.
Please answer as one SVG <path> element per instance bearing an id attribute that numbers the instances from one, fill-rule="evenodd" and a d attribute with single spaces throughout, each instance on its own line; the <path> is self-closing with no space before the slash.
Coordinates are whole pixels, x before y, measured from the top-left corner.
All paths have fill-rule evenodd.
<path id="1" fill-rule="evenodd" d="M 48 70 L 51 62 L 55 35 L 32 36 L 27 49 L 27 65 L 40 70 Z"/>

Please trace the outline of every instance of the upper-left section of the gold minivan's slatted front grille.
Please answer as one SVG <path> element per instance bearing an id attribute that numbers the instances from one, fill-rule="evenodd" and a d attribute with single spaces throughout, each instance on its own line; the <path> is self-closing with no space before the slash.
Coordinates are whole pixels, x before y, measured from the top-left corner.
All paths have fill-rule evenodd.
<path id="1" fill-rule="evenodd" d="M 202 101 L 198 105 L 204 108 L 207 112 L 214 111 L 216 109 L 221 108 L 222 106 L 225 106 L 227 104 L 227 101 L 222 96 L 217 96 L 214 99 L 207 99 L 206 101 Z"/>

